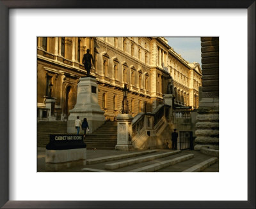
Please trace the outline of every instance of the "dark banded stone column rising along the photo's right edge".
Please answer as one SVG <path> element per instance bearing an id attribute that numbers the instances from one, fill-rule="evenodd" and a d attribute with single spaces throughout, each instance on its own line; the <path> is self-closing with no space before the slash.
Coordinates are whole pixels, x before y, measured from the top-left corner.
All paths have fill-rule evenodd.
<path id="1" fill-rule="evenodd" d="M 196 119 L 196 146 L 219 147 L 219 38 L 202 37 L 202 92 Z"/>

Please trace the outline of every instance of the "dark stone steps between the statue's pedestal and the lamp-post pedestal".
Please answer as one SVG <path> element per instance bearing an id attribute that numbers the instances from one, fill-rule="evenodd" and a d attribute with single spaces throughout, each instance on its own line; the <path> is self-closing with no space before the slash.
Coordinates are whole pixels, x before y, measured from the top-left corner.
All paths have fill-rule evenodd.
<path id="1" fill-rule="evenodd" d="M 87 134 L 84 142 L 88 149 L 115 150 L 117 122 L 106 121 L 92 134 Z"/>

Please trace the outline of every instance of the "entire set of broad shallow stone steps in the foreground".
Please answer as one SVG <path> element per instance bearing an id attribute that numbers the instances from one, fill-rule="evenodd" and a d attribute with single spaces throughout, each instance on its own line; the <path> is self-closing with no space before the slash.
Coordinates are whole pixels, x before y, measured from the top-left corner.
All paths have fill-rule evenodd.
<path id="1" fill-rule="evenodd" d="M 87 159 L 83 172 L 218 172 L 218 157 L 191 150 L 145 150 Z"/>

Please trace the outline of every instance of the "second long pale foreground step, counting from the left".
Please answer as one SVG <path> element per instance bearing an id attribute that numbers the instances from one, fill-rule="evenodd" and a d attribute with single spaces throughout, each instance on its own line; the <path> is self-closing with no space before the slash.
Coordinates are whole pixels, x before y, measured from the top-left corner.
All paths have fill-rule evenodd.
<path id="1" fill-rule="evenodd" d="M 155 155 L 149 155 L 145 157 L 138 157 L 135 159 L 129 159 L 125 161 L 120 161 L 120 162 L 113 162 L 110 164 L 105 165 L 105 169 L 113 170 L 113 169 L 118 169 L 118 168 L 123 168 L 125 166 L 131 166 L 132 164 L 138 164 L 141 162 L 147 162 L 147 161 L 153 161 L 155 159 L 163 158 L 163 157 L 168 157 L 170 155 L 175 155 L 179 154 L 181 151 L 173 151 L 173 152 L 166 152 L 166 153 L 161 153 L 161 154 L 155 154 Z"/>

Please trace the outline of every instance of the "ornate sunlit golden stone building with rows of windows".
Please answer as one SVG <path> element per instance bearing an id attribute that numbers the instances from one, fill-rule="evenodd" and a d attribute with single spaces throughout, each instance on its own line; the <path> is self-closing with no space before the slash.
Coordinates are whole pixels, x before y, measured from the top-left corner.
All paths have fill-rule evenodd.
<path id="1" fill-rule="evenodd" d="M 122 88 L 127 83 L 132 116 L 152 112 L 167 92 L 170 75 L 176 106 L 198 108 L 202 74 L 198 63 L 189 63 L 160 37 L 38 37 L 38 119 L 53 114 L 66 120 L 76 105 L 77 83 L 86 75 L 83 54 L 90 49 L 95 62 L 99 105 L 106 119 L 114 120 L 122 105 Z M 51 96 L 54 106 L 45 105 Z"/>

